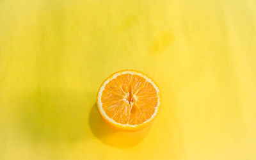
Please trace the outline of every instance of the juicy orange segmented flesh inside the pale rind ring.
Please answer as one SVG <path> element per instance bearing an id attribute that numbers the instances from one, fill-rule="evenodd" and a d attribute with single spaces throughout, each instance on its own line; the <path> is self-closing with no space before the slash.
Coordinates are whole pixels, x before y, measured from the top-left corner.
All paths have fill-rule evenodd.
<path id="1" fill-rule="evenodd" d="M 102 108 L 119 124 L 136 125 L 148 120 L 157 106 L 157 91 L 144 77 L 122 74 L 106 84 Z"/>

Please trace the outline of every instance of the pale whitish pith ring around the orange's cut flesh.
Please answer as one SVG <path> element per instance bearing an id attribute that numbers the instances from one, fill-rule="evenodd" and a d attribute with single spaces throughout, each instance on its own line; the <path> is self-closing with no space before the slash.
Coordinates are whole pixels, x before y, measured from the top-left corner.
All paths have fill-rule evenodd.
<path id="1" fill-rule="evenodd" d="M 118 122 L 115 122 L 115 120 L 113 120 L 112 118 L 109 118 L 109 116 L 105 113 L 104 109 L 102 108 L 102 102 L 101 102 L 101 96 L 102 96 L 102 92 L 103 90 L 105 89 L 105 86 L 106 84 L 109 83 L 109 81 L 111 81 L 112 79 L 115 79 L 117 76 L 120 76 L 122 74 L 132 74 L 132 75 L 138 75 L 138 76 L 141 76 L 143 78 L 146 79 L 146 81 L 148 81 L 149 83 L 152 84 L 152 86 L 154 86 L 154 88 L 156 89 L 156 92 L 157 92 L 157 106 L 156 106 L 156 109 L 155 109 L 155 112 L 153 113 L 153 115 L 148 118 L 148 120 L 146 120 L 145 122 L 143 122 L 142 124 L 145 124 L 147 122 L 149 122 L 150 120 L 154 119 L 154 117 L 157 115 L 157 112 L 158 112 L 158 109 L 159 109 L 159 106 L 160 106 L 160 95 L 159 95 L 159 89 L 157 88 L 156 84 L 150 79 L 148 78 L 147 76 L 141 74 L 140 72 L 136 72 L 134 70 L 125 70 L 123 72 L 118 72 L 116 74 L 114 74 L 112 77 L 109 77 L 106 81 L 104 81 L 104 83 L 102 84 L 102 86 L 100 87 L 100 90 L 99 90 L 99 96 L 98 96 L 98 105 L 99 105 L 99 110 L 100 110 L 100 113 L 109 121 L 111 122 L 112 124 L 115 124 L 115 125 L 120 125 L 122 127 L 137 127 L 138 125 L 142 125 L 142 124 L 136 124 L 136 125 L 131 125 L 131 124 L 120 124 Z M 136 99 L 136 96 L 134 97 L 134 99 Z M 127 101 L 128 102 L 128 101 Z"/>

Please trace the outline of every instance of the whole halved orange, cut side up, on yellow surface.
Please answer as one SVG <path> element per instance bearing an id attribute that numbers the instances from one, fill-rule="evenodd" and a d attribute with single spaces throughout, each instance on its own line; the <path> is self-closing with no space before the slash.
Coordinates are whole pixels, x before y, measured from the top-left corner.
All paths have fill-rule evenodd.
<path id="1" fill-rule="evenodd" d="M 137 131 L 156 117 L 160 106 L 159 88 L 141 72 L 121 70 L 101 84 L 97 106 L 111 127 Z"/>

